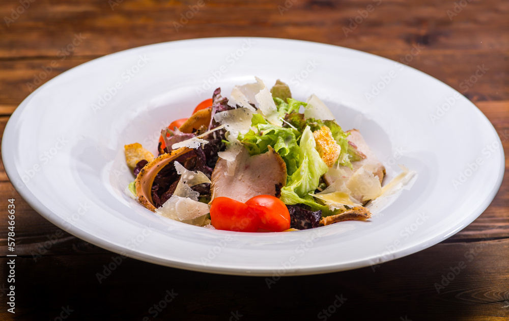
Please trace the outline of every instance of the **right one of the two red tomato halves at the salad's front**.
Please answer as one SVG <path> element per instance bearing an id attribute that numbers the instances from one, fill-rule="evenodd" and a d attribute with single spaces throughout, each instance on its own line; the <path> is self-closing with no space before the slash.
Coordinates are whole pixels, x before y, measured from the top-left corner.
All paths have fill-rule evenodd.
<path id="1" fill-rule="evenodd" d="M 272 195 L 258 195 L 250 198 L 249 205 L 261 220 L 260 228 L 281 232 L 290 228 L 290 212 L 280 199 Z"/>

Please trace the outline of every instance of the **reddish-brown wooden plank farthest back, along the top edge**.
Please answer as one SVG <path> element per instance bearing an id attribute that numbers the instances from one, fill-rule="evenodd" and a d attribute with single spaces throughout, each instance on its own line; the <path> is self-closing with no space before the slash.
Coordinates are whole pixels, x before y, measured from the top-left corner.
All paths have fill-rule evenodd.
<path id="1" fill-rule="evenodd" d="M 100 0 L 76 1 L 72 7 L 64 1 L 38 0 L 9 27 L 4 24 L 0 29 L 0 57 L 53 57 L 79 33 L 85 38 L 72 55 L 102 56 L 161 41 L 245 35 L 318 40 L 364 51 L 404 48 L 412 42 L 438 49 L 509 48 L 508 35 L 499 32 L 507 28 L 508 5 L 496 0 L 471 2 L 452 20 L 447 10 L 452 10 L 454 3 L 445 0 L 433 4 L 425 0 L 384 1 L 380 6 L 372 1 L 300 0 L 282 14 L 278 5 L 284 2 L 217 0 L 206 2 L 177 30 L 174 22 L 194 4 L 138 0 L 122 2 L 111 10 Z M 362 18 L 359 11 L 368 5 L 374 5 L 375 10 Z M 11 12 L 17 6 L 17 2 L 4 2 L 0 12 Z M 53 19 L 47 21 L 48 16 Z M 345 36 L 343 28 L 349 28 L 350 19 L 356 17 L 360 24 L 352 24 L 353 31 Z"/>

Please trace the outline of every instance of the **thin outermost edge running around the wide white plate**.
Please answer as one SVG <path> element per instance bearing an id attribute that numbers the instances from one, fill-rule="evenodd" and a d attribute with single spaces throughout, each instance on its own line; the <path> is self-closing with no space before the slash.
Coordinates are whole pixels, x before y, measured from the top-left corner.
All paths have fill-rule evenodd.
<path id="1" fill-rule="evenodd" d="M 23 200 L 26 203 L 28 203 L 32 208 L 34 208 L 34 210 L 36 210 L 46 220 L 50 221 L 52 224 L 56 225 L 57 227 L 65 230 L 66 232 L 68 232 L 78 238 L 86 240 L 86 242 L 94 244 L 95 246 L 106 249 L 108 251 L 111 251 L 111 252 L 114 252 L 117 254 L 121 254 L 121 255 L 126 255 L 128 257 L 133 257 L 133 258 L 140 259 L 143 261 L 159 264 L 159 265 L 172 266 L 173 268 L 185 269 L 185 270 L 196 271 L 196 272 L 225 274 L 225 275 L 270 276 L 271 273 L 273 272 L 272 266 L 271 267 L 256 266 L 256 267 L 253 267 L 252 271 L 246 271 L 244 268 L 236 268 L 236 267 L 230 267 L 230 266 L 224 266 L 224 265 L 220 266 L 220 267 L 216 267 L 214 265 L 205 266 L 203 264 L 185 263 L 185 262 L 173 260 L 172 258 L 168 258 L 168 257 L 166 257 L 164 259 L 160 259 L 159 257 L 154 257 L 152 255 L 138 252 L 136 250 L 133 251 L 131 249 L 126 248 L 125 246 L 123 247 L 123 246 L 119 246 L 114 243 L 107 242 L 104 239 L 98 237 L 97 235 L 90 234 L 90 233 L 88 233 L 88 232 L 86 232 L 72 224 L 67 229 L 63 228 L 61 222 L 58 222 L 58 218 L 54 215 L 54 213 L 52 211 L 50 211 L 48 208 L 46 208 L 46 206 L 39 199 L 37 199 L 29 189 L 26 189 L 26 188 L 19 189 L 18 186 L 16 186 L 13 183 L 11 176 L 12 175 L 17 176 L 18 174 L 16 172 L 16 164 L 14 163 L 14 156 L 11 152 L 9 152 L 7 150 L 9 148 L 9 145 L 14 144 L 14 142 L 15 142 L 15 140 L 13 141 L 12 137 L 11 137 L 14 132 L 14 130 L 11 128 L 14 127 L 15 124 L 17 124 L 19 122 L 19 118 L 20 118 L 19 116 L 24 111 L 26 106 L 29 105 L 29 102 L 31 101 L 31 99 L 36 95 L 36 93 L 44 90 L 46 87 L 49 87 L 53 82 L 56 82 L 54 79 L 58 79 L 59 77 L 61 77 L 61 75 L 71 72 L 71 70 L 75 70 L 77 68 L 83 68 L 83 66 L 86 66 L 89 63 L 95 63 L 96 61 L 107 59 L 110 56 L 122 55 L 128 51 L 134 52 L 136 50 L 143 50 L 148 47 L 157 48 L 158 46 L 162 46 L 162 45 L 169 44 L 169 43 L 201 42 L 204 40 L 214 42 L 217 40 L 224 40 L 224 39 L 241 40 L 241 39 L 246 39 L 246 38 L 258 39 L 258 40 L 262 40 L 262 41 L 264 41 L 264 40 L 288 41 L 288 42 L 296 42 L 296 43 L 306 43 L 307 45 L 322 45 L 322 46 L 328 46 L 328 47 L 334 47 L 334 48 L 341 48 L 341 49 L 346 49 L 348 51 L 355 52 L 356 55 L 365 55 L 365 56 L 370 56 L 370 57 L 376 57 L 377 59 L 383 59 L 383 60 L 386 60 L 389 62 L 394 62 L 393 60 L 390 60 L 385 57 L 377 56 L 377 55 L 374 55 L 369 52 L 360 51 L 360 50 L 352 49 L 352 48 L 348 48 L 348 47 L 337 46 L 337 45 L 333 45 L 333 44 L 305 41 L 305 40 L 297 40 L 297 39 L 268 38 L 268 37 L 192 38 L 192 39 L 183 39 L 183 40 L 175 40 L 175 41 L 160 42 L 160 43 L 155 43 L 155 44 L 148 44 L 148 45 L 144 45 L 144 46 L 138 46 L 138 47 L 134 47 L 134 48 L 125 49 L 122 51 L 109 53 L 108 55 L 95 58 L 91 61 L 85 62 L 85 63 L 77 65 L 69 70 L 66 70 L 65 72 L 63 72 L 59 75 L 56 75 L 55 77 L 51 78 L 48 82 L 46 82 L 45 84 L 43 84 L 42 86 L 40 86 L 39 88 L 34 90 L 32 93 L 30 93 L 29 96 L 27 96 L 25 99 L 23 99 L 23 101 L 17 106 L 17 108 L 12 113 L 12 115 L 10 116 L 10 118 L 5 126 L 4 134 L 3 134 L 3 138 L 2 138 L 2 161 L 4 164 L 4 169 L 5 169 L 6 175 L 9 178 L 9 182 L 14 187 L 14 189 L 17 191 L 17 193 L 23 198 Z M 413 71 L 417 71 L 421 75 L 425 75 L 425 76 L 433 79 L 433 81 L 441 83 L 442 86 L 447 86 L 447 88 L 449 90 L 451 90 L 452 92 L 459 93 L 454 88 L 450 87 L 449 85 L 443 83 L 439 79 L 437 79 L 425 72 L 422 72 L 422 71 L 417 70 L 410 66 L 406 66 L 406 67 L 411 68 Z M 464 97 L 464 95 L 462 95 L 461 93 L 459 93 L 459 94 L 462 97 Z M 486 115 L 482 111 L 479 110 L 479 108 L 472 101 L 470 101 L 468 98 L 467 98 L 467 100 L 474 107 L 474 110 L 479 115 L 482 115 L 483 121 L 486 121 L 488 124 L 491 125 L 490 130 L 492 131 L 492 134 L 494 135 L 494 137 L 496 137 L 496 139 L 498 140 L 498 143 L 501 144 L 500 137 L 498 136 L 498 133 L 497 133 L 496 129 L 494 128 L 493 124 L 490 122 L 490 120 L 486 117 Z M 7 147 L 6 147 L 6 145 L 7 145 Z M 428 238 L 428 241 L 426 243 L 419 244 L 418 249 L 416 249 L 415 246 L 407 246 L 407 247 L 403 246 L 403 247 L 391 252 L 391 257 L 389 259 L 384 259 L 383 262 L 401 258 L 401 257 L 407 256 L 407 255 L 422 251 L 424 249 L 427 249 L 433 245 L 436 245 L 439 242 L 441 242 L 442 240 L 458 233 L 463 228 L 465 228 L 470 223 L 472 223 L 475 219 L 477 219 L 480 215 L 482 215 L 482 213 L 486 210 L 486 208 L 488 208 L 488 206 L 491 204 L 491 202 L 497 195 L 497 193 L 500 189 L 500 186 L 502 184 L 502 181 L 503 181 L 503 177 L 504 177 L 504 173 L 505 173 L 505 155 L 504 155 L 503 148 L 500 148 L 499 150 L 500 150 L 500 168 L 498 169 L 498 177 L 497 177 L 496 183 L 493 186 L 493 188 L 491 189 L 489 195 L 484 199 L 484 201 L 482 203 L 479 204 L 479 206 L 477 206 L 477 208 L 473 209 L 470 212 L 470 215 L 467 217 L 466 220 L 461 221 L 461 223 L 459 223 L 459 224 L 457 223 L 454 227 L 449 227 L 447 230 L 450 231 L 450 233 L 447 233 L 446 235 L 437 235 L 437 236 L 434 236 L 433 238 Z M 317 266 L 312 266 L 312 267 L 308 267 L 308 268 L 298 268 L 297 267 L 294 271 L 287 271 L 287 274 L 285 274 L 285 275 L 291 276 L 291 275 L 324 274 L 324 273 L 357 269 L 357 268 L 362 268 L 362 267 L 372 265 L 372 264 L 366 264 L 366 263 L 370 263 L 370 258 L 364 258 L 363 260 L 357 260 L 355 262 L 350 262 L 346 265 L 343 262 L 343 263 L 335 263 L 335 264 L 328 264 L 328 265 L 317 265 Z M 340 266 L 342 266 L 342 267 L 340 268 Z"/>

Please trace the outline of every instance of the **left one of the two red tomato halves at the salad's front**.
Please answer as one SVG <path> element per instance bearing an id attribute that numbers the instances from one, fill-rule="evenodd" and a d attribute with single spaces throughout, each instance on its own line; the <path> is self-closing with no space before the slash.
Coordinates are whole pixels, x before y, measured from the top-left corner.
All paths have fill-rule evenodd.
<path id="1" fill-rule="evenodd" d="M 218 230 L 256 232 L 260 218 L 254 210 L 229 197 L 216 197 L 210 206 L 210 221 Z"/>

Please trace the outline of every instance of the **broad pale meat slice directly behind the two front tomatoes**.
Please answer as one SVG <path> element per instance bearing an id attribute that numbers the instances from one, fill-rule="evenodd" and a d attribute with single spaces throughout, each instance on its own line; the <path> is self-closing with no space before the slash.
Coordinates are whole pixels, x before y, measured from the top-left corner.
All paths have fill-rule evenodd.
<path id="1" fill-rule="evenodd" d="M 211 178 L 212 199 L 224 196 L 245 202 L 257 195 L 277 197 L 281 186 L 286 184 L 285 161 L 270 146 L 268 152 L 254 156 L 242 148 L 232 165 L 235 166 L 234 175 L 226 175 L 227 161 L 218 159 Z"/>

